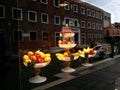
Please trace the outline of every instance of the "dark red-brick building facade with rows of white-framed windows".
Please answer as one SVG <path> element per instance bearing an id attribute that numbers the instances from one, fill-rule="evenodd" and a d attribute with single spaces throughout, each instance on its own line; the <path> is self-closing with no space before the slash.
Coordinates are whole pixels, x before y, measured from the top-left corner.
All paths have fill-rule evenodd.
<path id="1" fill-rule="evenodd" d="M 57 46 L 59 31 L 68 24 L 80 46 L 104 38 L 103 17 L 102 9 L 79 0 L 3 0 L 0 32 L 7 50 L 50 48 Z"/>

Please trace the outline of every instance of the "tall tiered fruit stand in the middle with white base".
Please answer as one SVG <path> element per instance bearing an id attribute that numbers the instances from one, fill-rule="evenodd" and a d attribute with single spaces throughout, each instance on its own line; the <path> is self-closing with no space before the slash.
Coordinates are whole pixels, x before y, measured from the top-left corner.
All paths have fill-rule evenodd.
<path id="1" fill-rule="evenodd" d="M 59 60 L 65 61 L 66 66 L 62 68 L 62 72 L 74 72 L 75 69 L 70 67 L 72 60 L 77 60 L 79 55 L 74 55 L 75 53 L 70 52 L 70 49 L 74 48 L 76 44 L 74 43 L 74 33 L 71 31 L 70 27 L 66 24 L 66 27 L 60 32 L 61 40 L 58 41 L 58 45 L 61 48 L 65 49 L 64 54 L 56 53 L 56 56 Z M 71 58 L 71 56 L 73 58 Z"/>

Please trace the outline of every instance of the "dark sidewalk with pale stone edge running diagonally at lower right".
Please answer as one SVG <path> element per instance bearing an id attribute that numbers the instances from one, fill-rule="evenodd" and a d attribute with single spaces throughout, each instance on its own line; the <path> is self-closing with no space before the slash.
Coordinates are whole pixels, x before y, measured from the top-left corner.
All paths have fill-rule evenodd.
<path id="1" fill-rule="evenodd" d="M 74 73 L 59 73 L 61 79 L 32 90 L 120 90 L 120 56 L 78 67 Z"/>

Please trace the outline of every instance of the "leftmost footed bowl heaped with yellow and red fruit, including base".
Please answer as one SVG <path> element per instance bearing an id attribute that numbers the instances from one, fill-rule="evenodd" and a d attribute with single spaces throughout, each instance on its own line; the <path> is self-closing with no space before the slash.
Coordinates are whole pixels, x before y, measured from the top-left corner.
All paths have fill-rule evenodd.
<path id="1" fill-rule="evenodd" d="M 30 83 L 42 83 L 47 80 L 46 77 L 40 76 L 40 68 L 47 66 L 51 62 L 51 55 L 40 50 L 36 52 L 28 51 L 23 55 L 23 64 L 28 67 L 33 64 L 35 76 L 29 79 Z"/>

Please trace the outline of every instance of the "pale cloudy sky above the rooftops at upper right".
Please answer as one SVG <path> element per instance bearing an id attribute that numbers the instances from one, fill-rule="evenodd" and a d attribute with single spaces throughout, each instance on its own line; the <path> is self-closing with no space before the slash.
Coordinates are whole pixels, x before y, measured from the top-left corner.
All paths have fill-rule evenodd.
<path id="1" fill-rule="evenodd" d="M 120 22 L 120 1 L 119 0 L 82 0 L 111 13 L 111 22 Z"/>

